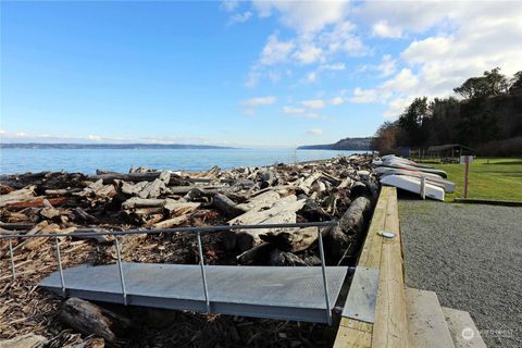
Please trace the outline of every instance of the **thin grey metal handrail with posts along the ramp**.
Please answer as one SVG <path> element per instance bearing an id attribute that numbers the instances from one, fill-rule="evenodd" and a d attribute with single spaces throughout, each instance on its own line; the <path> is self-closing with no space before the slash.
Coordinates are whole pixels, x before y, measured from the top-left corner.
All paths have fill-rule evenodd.
<path id="1" fill-rule="evenodd" d="M 259 229 L 259 228 L 294 228 L 294 227 L 318 227 L 318 240 L 319 240 L 319 253 L 321 259 L 321 272 L 323 277 L 323 289 L 324 289 L 324 298 L 326 301 L 326 315 L 328 320 L 328 325 L 332 325 L 332 309 L 330 304 L 330 295 L 328 295 L 328 285 L 326 282 L 326 265 L 324 260 L 324 248 L 323 248 L 323 238 L 321 234 L 321 227 L 334 227 L 337 226 L 337 221 L 322 221 L 322 222 L 307 222 L 307 223 L 291 223 L 291 224 L 259 224 L 259 225 L 219 225 L 219 226 L 196 226 L 196 227 L 175 227 L 175 228 L 162 228 L 162 229 L 128 229 L 128 231 L 103 231 L 100 232 L 98 228 L 92 229 L 92 232 L 80 232 L 80 233 L 55 233 L 55 234 L 12 234 L 12 235 L 0 235 L 1 239 L 9 240 L 9 253 L 11 257 L 11 272 L 13 279 L 16 278 L 16 271 L 15 271 L 15 263 L 14 263 L 14 254 L 13 254 L 13 246 L 12 239 L 17 238 L 54 238 L 55 247 L 57 247 L 57 261 L 58 268 L 60 273 L 60 282 L 62 286 L 62 295 L 66 296 L 66 287 L 65 287 L 65 278 L 63 275 L 63 268 L 62 268 L 62 258 L 60 253 L 60 244 L 58 238 L 60 237 L 96 237 L 100 235 L 109 235 L 114 236 L 114 246 L 116 248 L 116 263 L 120 273 L 120 283 L 122 286 L 122 296 L 123 296 L 123 303 L 127 306 L 127 293 L 125 289 L 125 277 L 122 266 L 122 256 L 121 256 L 121 247 L 120 241 L 117 239 L 119 236 L 127 236 L 127 235 L 137 235 L 137 234 L 147 234 L 147 235 L 156 235 L 156 234 L 170 234 L 170 233 L 191 233 L 197 235 L 198 239 L 198 252 L 199 252 L 199 264 L 201 268 L 201 279 L 203 284 L 203 291 L 204 291 L 204 299 L 207 303 L 207 311 L 211 312 L 211 301 L 209 296 L 209 290 L 207 286 L 207 273 L 204 268 L 204 258 L 203 258 L 203 248 L 201 243 L 201 233 L 203 232 L 217 232 L 217 231 L 234 231 L 234 229 Z"/>

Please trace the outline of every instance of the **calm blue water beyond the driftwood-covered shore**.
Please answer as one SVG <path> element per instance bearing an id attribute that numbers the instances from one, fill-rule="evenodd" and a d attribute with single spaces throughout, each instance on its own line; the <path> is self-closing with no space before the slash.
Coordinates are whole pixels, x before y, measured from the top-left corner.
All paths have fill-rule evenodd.
<path id="1" fill-rule="evenodd" d="M 321 160 L 357 151 L 295 150 L 295 149 L 227 149 L 227 150 L 60 150 L 1 149 L 0 173 L 66 171 L 94 174 L 97 169 L 127 172 L 130 166 L 159 170 L 204 171 L 213 165 L 222 169 L 237 166 L 294 163 Z M 359 151 L 360 152 L 360 151 Z"/>

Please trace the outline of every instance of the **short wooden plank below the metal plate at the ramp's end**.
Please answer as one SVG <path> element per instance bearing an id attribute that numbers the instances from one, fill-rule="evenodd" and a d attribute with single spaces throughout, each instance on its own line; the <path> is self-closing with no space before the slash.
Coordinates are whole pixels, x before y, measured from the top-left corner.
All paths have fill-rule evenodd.
<path id="1" fill-rule="evenodd" d="M 335 338 L 334 348 L 370 348 L 372 347 L 372 324 L 355 319 L 341 318 Z"/>

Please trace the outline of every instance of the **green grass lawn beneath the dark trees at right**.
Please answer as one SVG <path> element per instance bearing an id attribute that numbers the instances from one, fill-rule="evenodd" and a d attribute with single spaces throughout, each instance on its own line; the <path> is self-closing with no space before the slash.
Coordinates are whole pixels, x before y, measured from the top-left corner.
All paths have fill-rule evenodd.
<path id="1" fill-rule="evenodd" d="M 430 164 L 448 173 L 453 194 L 446 200 L 463 198 L 464 164 Z M 470 164 L 468 198 L 522 201 L 522 159 L 475 159 Z"/>

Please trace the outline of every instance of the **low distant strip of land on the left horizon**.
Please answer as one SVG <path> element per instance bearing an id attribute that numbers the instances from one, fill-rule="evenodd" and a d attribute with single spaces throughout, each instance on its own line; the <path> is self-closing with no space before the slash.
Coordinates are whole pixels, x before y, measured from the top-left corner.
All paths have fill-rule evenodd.
<path id="1" fill-rule="evenodd" d="M 17 142 L 0 144 L 2 149 L 233 149 L 231 147 L 187 144 L 42 144 Z"/>

